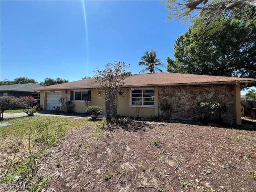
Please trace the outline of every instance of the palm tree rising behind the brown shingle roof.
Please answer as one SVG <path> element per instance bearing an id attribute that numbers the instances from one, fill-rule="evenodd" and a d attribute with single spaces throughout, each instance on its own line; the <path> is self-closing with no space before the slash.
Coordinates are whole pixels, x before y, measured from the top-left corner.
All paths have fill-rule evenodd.
<path id="1" fill-rule="evenodd" d="M 149 71 L 149 73 L 155 73 L 156 71 L 163 72 L 161 69 L 157 68 L 156 66 L 163 67 L 164 64 L 160 61 L 159 58 L 156 58 L 156 51 L 151 50 L 150 53 L 148 51 L 140 58 L 140 62 L 138 62 L 138 65 L 144 65 L 146 66 L 145 69 L 141 70 L 140 73 L 144 73 L 146 71 Z"/>

